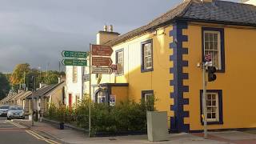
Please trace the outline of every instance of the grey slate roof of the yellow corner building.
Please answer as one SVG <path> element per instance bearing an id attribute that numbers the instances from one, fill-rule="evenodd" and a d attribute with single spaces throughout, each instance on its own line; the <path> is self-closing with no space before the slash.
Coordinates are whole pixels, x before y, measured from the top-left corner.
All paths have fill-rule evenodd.
<path id="1" fill-rule="evenodd" d="M 114 46 L 127 39 L 139 36 L 160 26 L 165 26 L 175 20 L 186 20 L 191 22 L 214 22 L 238 26 L 256 27 L 256 6 L 214 0 L 214 2 L 202 2 L 201 0 L 187 0 L 155 18 L 152 22 L 138 29 L 122 34 L 106 42 L 105 45 Z"/>

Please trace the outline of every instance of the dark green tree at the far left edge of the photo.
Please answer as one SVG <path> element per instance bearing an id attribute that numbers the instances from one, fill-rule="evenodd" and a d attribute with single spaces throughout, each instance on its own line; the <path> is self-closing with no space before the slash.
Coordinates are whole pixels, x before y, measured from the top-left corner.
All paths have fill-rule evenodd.
<path id="1" fill-rule="evenodd" d="M 0 99 L 5 98 L 10 90 L 10 82 L 5 74 L 0 73 Z"/>

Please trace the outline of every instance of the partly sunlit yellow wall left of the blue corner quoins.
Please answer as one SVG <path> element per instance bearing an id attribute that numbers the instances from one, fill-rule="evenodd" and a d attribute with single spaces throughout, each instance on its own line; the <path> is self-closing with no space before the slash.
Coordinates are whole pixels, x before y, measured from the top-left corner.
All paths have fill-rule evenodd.
<path id="1" fill-rule="evenodd" d="M 173 62 L 170 62 L 170 54 L 173 51 L 170 50 L 169 46 L 170 42 L 173 41 L 169 36 L 172 29 L 172 26 L 162 27 L 157 30 L 156 34 L 154 32 L 143 34 L 113 46 L 114 53 L 111 58 L 114 63 L 115 51 L 124 50 L 124 74 L 103 74 L 101 83 L 129 83 L 127 95 L 130 100 L 135 102 L 140 102 L 142 90 L 154 90 L 154 94 L 158 98 L 156 102 L 157 110 L 167 111 L 169 117 L 173 116 L 173 112 L 170 111 L 170 105 L 174 102 L 170 98 L 170 92 L 173 91 L 173 87 L 170 86 L 170 80 L 173 78 L 173 74 L 170 74 L 170 67 L 173 66 Z M 153 39 L 154 71 L 142 73 L 141 42 L 151 38 Z M 112 91 L 112 93 L 114 92 Z"/>

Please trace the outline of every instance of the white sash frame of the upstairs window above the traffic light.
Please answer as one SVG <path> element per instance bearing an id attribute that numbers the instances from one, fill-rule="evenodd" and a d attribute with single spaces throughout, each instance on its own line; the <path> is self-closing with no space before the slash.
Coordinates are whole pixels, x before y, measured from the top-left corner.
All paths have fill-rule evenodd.
<path id="1" fill-rule="evenodd" d="M 218 34 L 218 38 L 217 38 L 217 50 L 210 50 L 210 42 L 213 42 L 213 46 L 214 46 L 214 38 L 213 38 L 213 41 L 207 41 L 209 42 L 209 49 L 206 50 L 206 34 Z M 213 54 L 211 54 L 211 58 L 212 58 L 212 63 L 213 63 L 213 66 L 216 67 L 217 70 L 222 70 L 222 50 L 221 50 L 221 32 L 220 31 L 214 31 L 214 30 L 204 30 L 203 31 L 203 51 L 204 51 L 204 55 L 206 55 L 206 51 L 215 51 L 218 53 L 218 59 L 217 59 L 217 65 L 214 65 L 214 56 Z"/>

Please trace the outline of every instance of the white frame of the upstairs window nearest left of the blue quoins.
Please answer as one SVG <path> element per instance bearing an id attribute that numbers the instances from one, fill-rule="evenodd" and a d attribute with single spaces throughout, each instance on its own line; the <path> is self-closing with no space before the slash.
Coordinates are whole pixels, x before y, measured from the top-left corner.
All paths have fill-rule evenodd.
<path id="1" fill-rule="evenodd" d="M 146 46 L 147 50 L 146 50 Z M 149 54 L 150 51 L 150 54 Z M 147 66 L 147 63 L 151 63 L 151 66 Z M 153 68 L 153 49 L 152 49 L 152 42 L 148 42 L 143 44 L 143 69 L 150 70 Z"/>

